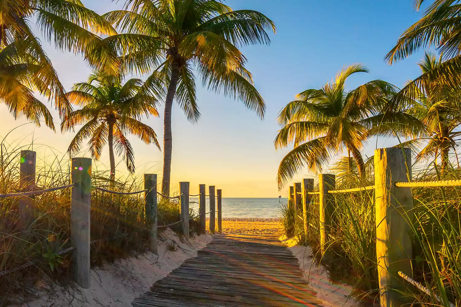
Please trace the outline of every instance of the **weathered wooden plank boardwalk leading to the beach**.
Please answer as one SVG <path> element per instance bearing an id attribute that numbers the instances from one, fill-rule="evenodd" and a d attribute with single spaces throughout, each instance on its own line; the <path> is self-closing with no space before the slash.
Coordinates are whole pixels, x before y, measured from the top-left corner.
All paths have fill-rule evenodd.
<path id="1" fill-rule="evenodd" d="M 275 237 L 217 235 L 134 307 L 321 306 L 297 259 Z"/>

